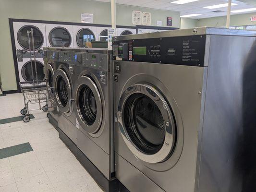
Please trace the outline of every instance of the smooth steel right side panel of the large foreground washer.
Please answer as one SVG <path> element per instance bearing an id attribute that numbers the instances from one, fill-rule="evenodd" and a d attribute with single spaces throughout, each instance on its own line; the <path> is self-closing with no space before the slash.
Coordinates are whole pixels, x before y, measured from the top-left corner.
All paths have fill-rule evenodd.
<path id="1" fill-rule="evenodd" d="M 256 143 L 255 50 L 255 37 L 210 38 L 201 162 L 196 192 L 252 190 L 245 186 L 250 174 L 246 173 L 244 165 L 251 162 L 248 168 L 255 168 L 251 160 L 255 159 L 255 155 L 248 156 L 244 148 L 248 147 L 248 143 Z M 251 57 L 254 59 L 249 59 Z M 250 74 L 251 77 L 248 77 Z M 253 149 L 255 151 L 255 145 Z M 251 178 L 255 176 L 251 175 Z"/>

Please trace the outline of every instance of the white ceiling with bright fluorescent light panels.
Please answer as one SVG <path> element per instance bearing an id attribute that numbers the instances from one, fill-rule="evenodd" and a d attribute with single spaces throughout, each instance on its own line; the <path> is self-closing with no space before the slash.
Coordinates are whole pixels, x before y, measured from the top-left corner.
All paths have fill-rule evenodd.
<path id="1" fill-rule="evenodd" d="M 111 0 L 98 0 L 102 2 L 110 2 Z M 181 15 L 188 14 L 201 14 L 199 16 L 189 17 L 192 19 L 202 19 L 209 17 L 219 17 L 227 15 L 227 7 L 218 9 L 206 9 L 204 7 L 227 3 L 228 0 L 198 0 L 195 2 L 185 3 L 185 4 L 174 4 L 171 3 L 175 0 L 116 0 L 116 3 L 124 5 L 133 5 L 138 7 L 154 8 L 161 10 L 170 10 L 181 12 Z M 232 6 L 231 10 L 240 10 L 248 8 L 256 8 L 256 0 L 232 0 L 232 3 L 237 3 L 238 5 Z M 213 12 L 220 11 L 220 12 Z M 256 12 L 256 11 L 254 11 Z M 249 12 L 243 12 L 249 13 Z M 241 13 L 231 13 L 231 14 L 241 14 Z"/>

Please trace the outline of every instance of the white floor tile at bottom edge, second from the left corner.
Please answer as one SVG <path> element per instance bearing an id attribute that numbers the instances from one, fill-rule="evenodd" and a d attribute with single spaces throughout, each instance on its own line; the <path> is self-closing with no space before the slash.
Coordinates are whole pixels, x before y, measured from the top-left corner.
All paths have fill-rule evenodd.
<path id="1" fill-rule="evenodd" d="M 53 189 L 47 175 L 41 174 L 35 177 L 16 182 L 19 192 L 45 192 Z"/>

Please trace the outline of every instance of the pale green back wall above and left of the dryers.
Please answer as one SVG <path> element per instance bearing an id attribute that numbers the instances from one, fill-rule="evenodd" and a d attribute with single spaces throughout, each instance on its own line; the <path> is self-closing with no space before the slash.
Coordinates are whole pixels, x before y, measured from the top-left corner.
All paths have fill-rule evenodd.
<path id="1" fill-rule="evenodd" d="M 92 0 L 0 0 L 0 76 L 3 91 L 16 90 L 9 18 L 35 19 L 80 23 L 80 14 L 93 13 L 95 24 L 111 24 L 110 3 Z M 180 27 L 180 12 L 162 11 L 134 6 L 117 5 L 117 24 L 132 25 L 132 11 L 152 13 L 152 25 L 173 17 L 173 27 Z"/>

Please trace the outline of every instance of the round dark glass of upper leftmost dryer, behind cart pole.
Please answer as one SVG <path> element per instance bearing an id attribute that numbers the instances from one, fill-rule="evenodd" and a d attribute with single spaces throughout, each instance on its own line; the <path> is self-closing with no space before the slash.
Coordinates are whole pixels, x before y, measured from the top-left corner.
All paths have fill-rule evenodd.
<path id="1" fill-rule="evenodd" d="M 33 29 L 33 35 L 34 35 L 34 42 L 35 42 L 35 50 L 38 50 L 42 47 L 44 43 L 44 36 L 42 32 L 36 27 L 32 25 L 26 25 L 20 28 L 17 34 L 17 39 L 21 47 L 23 47 L 26 50 L 29 50 L 29 43 L 27 38 L 27 31 L 30 31 L 31 28 Z M 30 41 L 30 48 L 32 49 L 32 41 Z"/>

